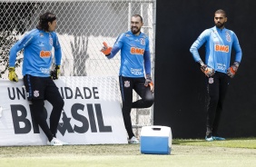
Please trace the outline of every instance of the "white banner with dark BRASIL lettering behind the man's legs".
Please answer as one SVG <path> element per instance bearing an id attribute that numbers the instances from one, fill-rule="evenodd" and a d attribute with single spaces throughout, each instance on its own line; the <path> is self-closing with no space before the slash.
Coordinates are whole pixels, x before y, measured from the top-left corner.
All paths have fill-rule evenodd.
<path id="1" fill-rule="evenodd" d="M 64 99 L 56 137 L 71 144 L 127 143 L 119 88 L 113 77 L 70 76 L 54 80 Z M 23 81 L 0 80 L 0 145 L 44 145 L 32 120 Z M 49 123 L 52 105 L 44 101 Z M 36 111 L 34 111 L 36 112 Z"/>

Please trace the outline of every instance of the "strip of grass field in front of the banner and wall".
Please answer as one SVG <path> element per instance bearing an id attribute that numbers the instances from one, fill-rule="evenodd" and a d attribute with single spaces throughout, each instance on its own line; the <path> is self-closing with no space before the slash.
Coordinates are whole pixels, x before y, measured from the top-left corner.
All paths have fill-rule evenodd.
<path id="1" fill-rule="evenodd" d="M 0 147 L 0 166 L 255 167 L 256 138 L 176 139 L 171 155 L 142 154 L 140 144 Z"/>

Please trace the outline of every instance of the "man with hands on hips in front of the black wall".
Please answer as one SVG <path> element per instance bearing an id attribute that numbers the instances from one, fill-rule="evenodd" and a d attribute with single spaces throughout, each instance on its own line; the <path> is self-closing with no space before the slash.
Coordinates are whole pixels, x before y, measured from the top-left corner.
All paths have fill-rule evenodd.
<path id="1" fill-rule="evenodd" d="M 214 14 L 215 26 L 204 30 L 191 46 L 192 56 L 205 74 L 210 96 L 206 119 L 206 141 L 225 140 L 218 135 L 224 98 L 231 78 L 237 73 L 241 63 L 241 47 L 236 34 L 225 28 L 226 13 L 220 9 Z M 205 64 L 198 49 L 205 44 Z M 235 51 L 234 63 L 231 62 L 231 48 Z"/>

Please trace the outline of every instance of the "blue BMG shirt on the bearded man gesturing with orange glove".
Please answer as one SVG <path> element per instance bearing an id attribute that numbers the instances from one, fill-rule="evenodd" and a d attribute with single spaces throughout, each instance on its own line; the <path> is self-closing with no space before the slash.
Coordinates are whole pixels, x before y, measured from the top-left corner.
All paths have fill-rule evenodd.
<path id="1" fill-rule="evenodd" d="M 109 59 L 121 50 L 121 66 L 119 74 L 125 77 L 144 77 L 151 74 L 151 58 L 149 38 L 146 34 L 135 35 L 131 31 L 119 35 L 113 44 Z"/>

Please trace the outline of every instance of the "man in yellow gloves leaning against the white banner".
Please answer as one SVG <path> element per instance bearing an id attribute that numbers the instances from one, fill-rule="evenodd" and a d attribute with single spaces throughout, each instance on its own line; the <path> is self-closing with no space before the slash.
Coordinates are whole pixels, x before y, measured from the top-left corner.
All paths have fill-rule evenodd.
<path id="1" fill-rule="evenodd" d="M 48 138 L 49 145 L 64 145 L 56 138 L 57 126 L 64 107 L 64 100 L 53 79 L 58 79 L 61 64 L 61 45 L 57 34 L 56 17 L 52 13 L 40 15 L 39 24 L 13 45 L 10 50 L 9 80 L 18 82 L 15 74 L 16 54 L 24 49 L 22 74 L 27 100 L 32 102 L 31 113 Z M 55 68 L 51 72 L 54 47 Z M 52 76 L 51 76 L 51 75 Z M 44 116 L 44 100 L 53 105 L 50 115 L 50 127 Z"/>

